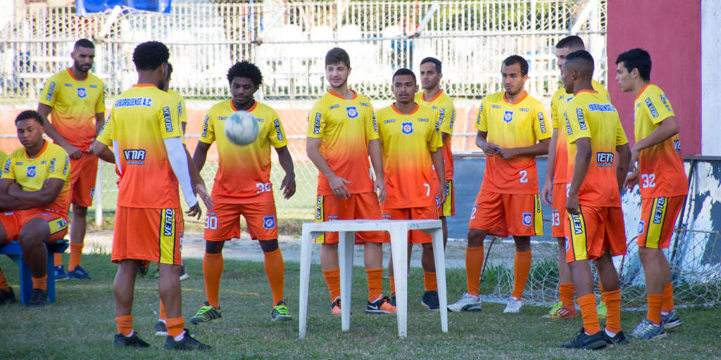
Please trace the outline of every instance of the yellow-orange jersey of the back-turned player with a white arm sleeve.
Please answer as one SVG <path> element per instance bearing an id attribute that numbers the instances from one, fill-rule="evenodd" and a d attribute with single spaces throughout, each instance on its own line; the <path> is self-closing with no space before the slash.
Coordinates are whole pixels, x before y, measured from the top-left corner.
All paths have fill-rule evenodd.
<path id="1" fill-rule="evenodd" d="M 115 100 L 102 132 L 118 141 L 122 172 L 118 205 L 150 209 L 180 208 L 178 181 L 164 139 L 182 138 L 177 102 L 151 84 L 137 84 Z"/>

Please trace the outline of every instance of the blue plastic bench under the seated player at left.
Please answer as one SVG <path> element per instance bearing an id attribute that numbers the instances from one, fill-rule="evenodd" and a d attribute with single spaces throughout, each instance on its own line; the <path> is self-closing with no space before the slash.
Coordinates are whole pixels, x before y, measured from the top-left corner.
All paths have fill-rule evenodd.
<path id="1" fill-rule="evenodd" d="M 53 254 L 65 251 L 68 248 L 68 240 L 52 241 L 45 243 L 45 246 L 48 248 L 48 300 L 55 302 L 55 259 Z M 20 243 L 10 241 L 4 246 L 0 246 L 0 254 L 7 255 L 20 268 L 20 303 L 25 305 L 26 302 L 30 301 L 32 295 L 32 275 L 30 274 L 30 268 L 25 264 L 22 257 Z"/>

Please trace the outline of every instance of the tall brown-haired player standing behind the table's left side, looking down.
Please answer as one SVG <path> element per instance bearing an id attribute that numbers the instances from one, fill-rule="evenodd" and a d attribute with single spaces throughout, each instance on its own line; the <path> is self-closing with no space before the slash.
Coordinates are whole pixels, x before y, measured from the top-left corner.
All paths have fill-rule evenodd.
<path id="1" fill-rule="evenodd" d="M 325 55 L 325 75 L 330 89 L 308 114 L 306 153 L 318 168 L 316 221 L 381 218 L 379 201 L 386 198 L 383 155 L 371 101 L 348 89 L 350 57 L 341 48 Z M 373 163 L 373 181 L 368 156 Z M 378 194 L 375 191 L 378 191 Z M 382 232 L 359 232 L 368 276 L 366 312 L 395 313 L 383 295 L 383 247 L 389 239 Z M 338 234 L 325 233 L 318 241 L 320 263 L 330 293 L 331 312 L 340 315 Z"/>

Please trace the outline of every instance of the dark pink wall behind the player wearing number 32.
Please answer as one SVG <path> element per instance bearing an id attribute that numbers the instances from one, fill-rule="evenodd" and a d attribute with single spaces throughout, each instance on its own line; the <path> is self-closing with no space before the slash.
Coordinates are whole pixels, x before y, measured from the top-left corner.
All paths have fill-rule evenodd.
<path id="1" fill-rule="evenodd" d="M 642 48 L 651 55 L 651 82 L 671 100 L 684 155 L 701 153 L 701 0 L 610 0 L 606 51 L 611 101 L 633 141 L 633 102 L 614 77 L 616 56 Z"/>

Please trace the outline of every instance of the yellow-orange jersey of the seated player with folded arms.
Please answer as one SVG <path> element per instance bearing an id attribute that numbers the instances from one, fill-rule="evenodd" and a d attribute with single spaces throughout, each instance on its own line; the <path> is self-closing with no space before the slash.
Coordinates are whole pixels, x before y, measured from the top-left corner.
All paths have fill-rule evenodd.
<path id="1" fill-rule="evenodd" d="M 63 187 L 47 209 L 68 214 L 70 206 L 70 157 L 60 145 L 45 140 L 43 150 L 29 158 L 25 148 L 14 150 L 5 161 L 2 179 L 14 180 L 26 192 L 35 192 L 43 188 L 47 179 L 65 181 Z"/>

